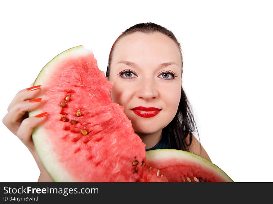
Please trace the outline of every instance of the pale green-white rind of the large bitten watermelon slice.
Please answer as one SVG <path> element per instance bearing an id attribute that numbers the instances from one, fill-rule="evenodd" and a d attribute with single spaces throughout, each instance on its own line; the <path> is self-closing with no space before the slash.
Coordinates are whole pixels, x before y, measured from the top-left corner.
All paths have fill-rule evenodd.
<path id="1" fill-rule="evenodd" d="M 51 61 L 49 61 L 43 69 L 38 74 L 35 79 L 34 86 L 41 85 L 41 94 L 43 94 L 43 86 L 46 85 L 48 77 L 54 73 L 56 66 L 69 58 L 75 58 L 80 56 L 85 56 L 88 54 L 93 54 L 91 50 L 85 49 L 82 45 L 70 48 L 61 52 L 56 57 L 54 57 Z M 39 108 L 34 111 L 29 111 L 29 117 L 36 116 L 42 113 L 42 109 Z M 54 154 L 53 147 L 51 146 L 51 141 L 47 136 L 47 130 L 43 129 L 41 125 L 38 125 L 33 129 L 32 139 L 34 142 L 34 146 L 36 148 L 38 157 L 40 158 L 41 163 L 53 179 L 53 181 L 58 182 L 73 182 L 75 179 L 66 173 L 67 171 L 63 169 L 57 161 L 58 156 Z"/>

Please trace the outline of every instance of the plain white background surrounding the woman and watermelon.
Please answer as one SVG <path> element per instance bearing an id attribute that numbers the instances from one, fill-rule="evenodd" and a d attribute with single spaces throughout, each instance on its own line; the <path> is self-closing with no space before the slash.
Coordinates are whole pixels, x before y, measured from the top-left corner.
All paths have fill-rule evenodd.
<path id="1" fill-rule="evenodd" d="M 60 52 L 83 45 L 106 72 L 115 39 L 154 22 L 181 43 L 183 88 L 213 163 L 235 182 L 273 182 L 272 9 L 270 1 L 1 2 L 1 121 L 16 93 Z M 0 181 L 36 182 L 30 152 L 0 128 Z"/>

